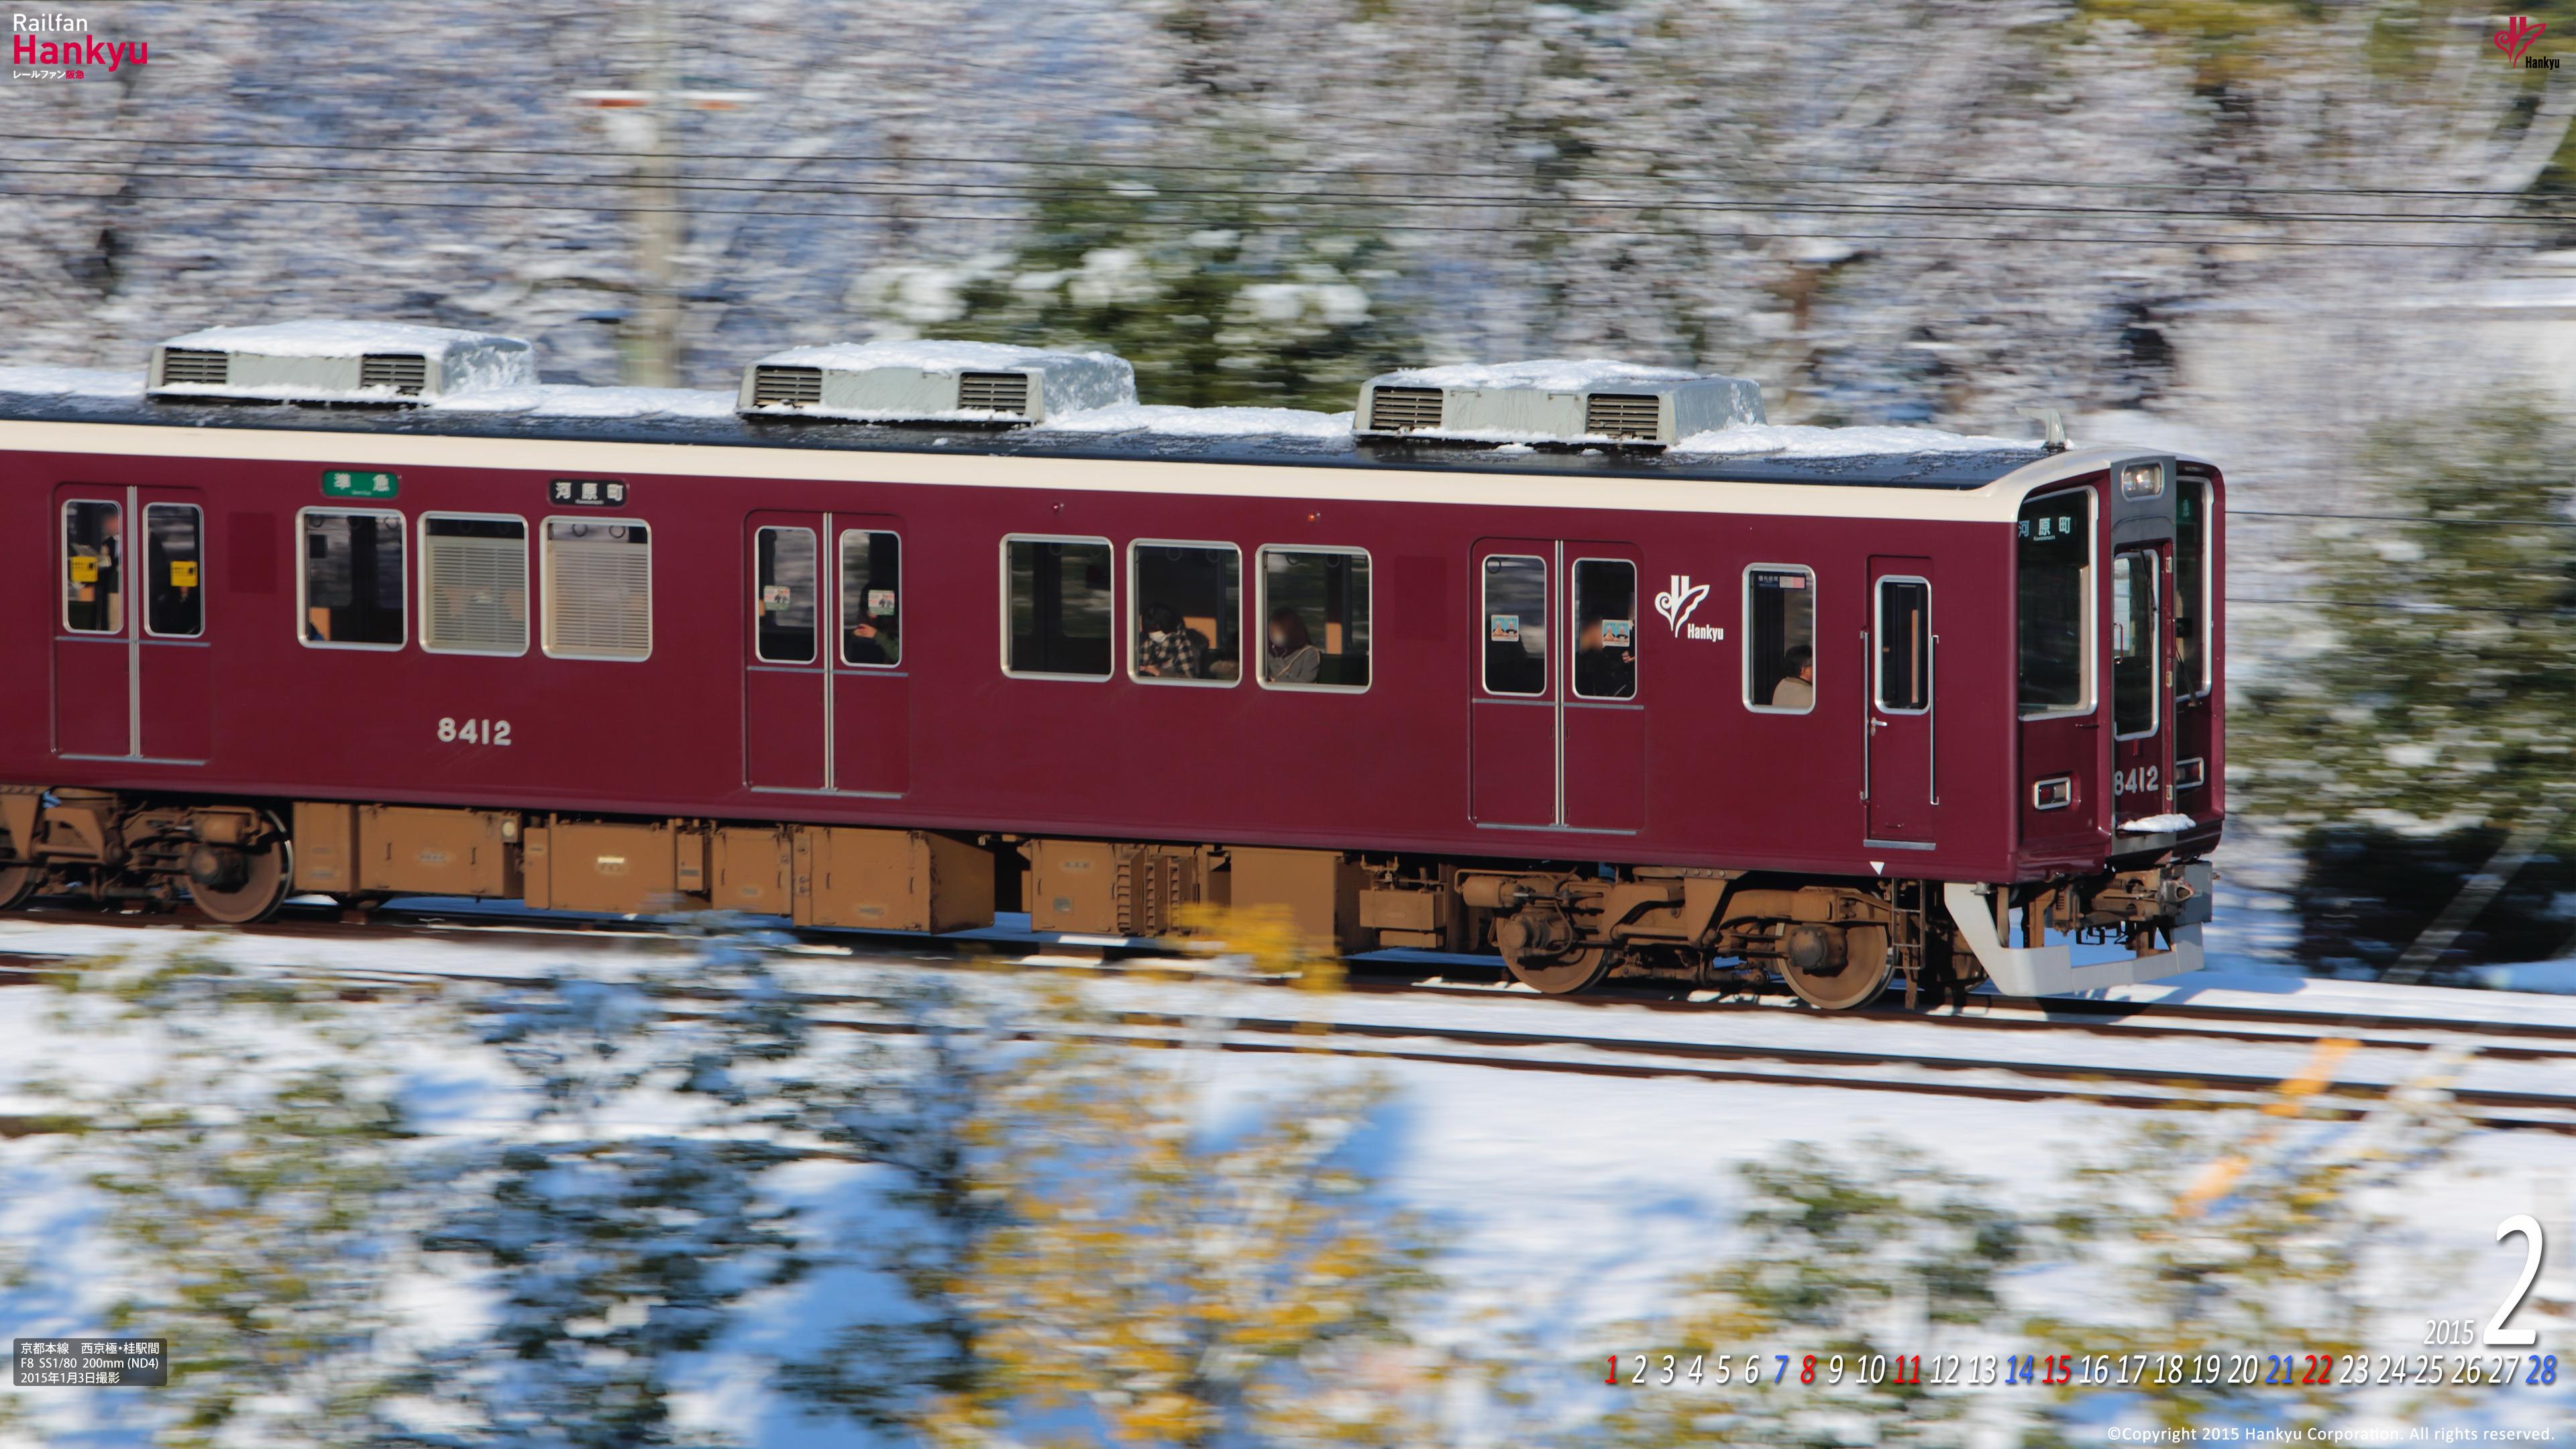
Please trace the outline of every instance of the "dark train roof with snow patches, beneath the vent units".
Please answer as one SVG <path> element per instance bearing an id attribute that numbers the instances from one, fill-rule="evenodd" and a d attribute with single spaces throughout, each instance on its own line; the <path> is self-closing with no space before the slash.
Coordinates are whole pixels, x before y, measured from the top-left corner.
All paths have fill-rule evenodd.
<path id="1" fill-rule="evenodd" d="M 422 407 L 201 402 L 144 400 L 142 379 L 126 374 L 36 366 L 0 369 L 0 420 L 1904 490 L 1976 490 L 2050 456 L 2038 443 L 1927 428 L 1752 425 L 1667 451 L 1355 441 L 1347 415 L 1283 407 L 1110 407 L 1033 428 L 873 425 L 742 418 L 732 392 L 569 384 Z"/>

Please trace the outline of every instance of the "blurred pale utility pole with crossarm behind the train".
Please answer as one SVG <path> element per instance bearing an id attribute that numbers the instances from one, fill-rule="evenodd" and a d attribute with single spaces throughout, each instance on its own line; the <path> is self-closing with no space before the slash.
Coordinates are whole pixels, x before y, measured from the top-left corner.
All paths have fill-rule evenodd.
<path id="1" fill-rule="evenodd" d="M 680 90 L 670 62 L 667 0 L 639 0 L 644 13 L 644 88 L 574 90 L 582 106 L 608 111 L 608 137 L 634 155 L 636 196 L 636 304 L 618 338 L 626 356 L 626 382 L 634 387 L 680 387 L 680 157 L 670 144 L 665 113 L 737 111 L 757 95 L 750 90 Z"/>

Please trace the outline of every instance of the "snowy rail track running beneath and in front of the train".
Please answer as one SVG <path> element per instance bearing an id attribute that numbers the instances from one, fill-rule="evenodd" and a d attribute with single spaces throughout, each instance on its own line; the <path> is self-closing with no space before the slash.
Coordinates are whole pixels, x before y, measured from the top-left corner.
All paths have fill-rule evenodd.
<path id="1" fill-rule="evenodd" d="M 33 926 L 170 928 L 178 918 L 39 910 Z M 224 928 L 247 938 L 420 938 L 451 944 L 515 941 L 520 949 L 616 949 L 683 941 L 662 920 L 567 923 L 554 915 L 477 910 L 471 915 L 376 913 L 340 920 L 335 908 L 294 908 L 283 920 Z M 1976 998 L 1942 1011 L 1847 1011 L 1824 1018 L 1772 998 L 1708 993 L 1600 993 L 1538 998 L 1528 990 L 1458 982 L 1401 969 L 1355 969 L 1347 993 L 1267 998 L 1278 1011 L 1211 1013 L 1172 993 L 1188 962 L 1128 944 L 1048 944 L 994 938 L 889 938 L 840 931 L 788 931 L 809 967 L 922 964 L 981 969 L 1087 969 L 1108 980 L 1103 1011 L 1084 1034 L 1136 1044 L 1188 1044 L 1247 1055 L 1337 1055 L 1358 1060 L 1535 1070 L 1597 1078 L 1695 1078 L 1837 1091 L 1888 1091 L 1989 1101 L 2074 1101 L 2123 1109 L 2275 1109 L 2308 1116 L 2362 1116 L 2393 1093 L 2439 1078 L 2470 1122 L 2494 1129 L 2576 1134 L 2576 1026 L 2470 1021 L 2460 1016 L 2352 1016 L 2205 1003 L 2012 1000 Z M 0 946 L 10 938 L 0 936 Z M 0 949 L 0 985 L 39 980 L 90 951 Z M 1200 962 L 1203 964 L 1203 962 Z M 422 990 L 440 982 L 526 985 L 531 977 L 384 964 L 276 967 L 322 977 L 350 993 Z M 1455 967 L 1440 967 L 1455 975 Z M 811 975 L 811 972 L 801 972 Z M 1283 985 L 1229 977 L 1234 985 Z M 696 993 L 690 993 L 696 995 Z M 708 995 L 721 995 L 714 987 Z M 824 1029 L 902 1031 L 886 998 L 799 985 Z M 1435 1000 L 1489 998 L 1476 1021 L 1427 1018 Z M 1533 1008 L 1533 1011 L 1522 1011 Z M 690 1013 L 675 1006 L 675 1013 Z M 1605 1031 L 1571 1029 L 1592 1016 Z M 1685 1021 L 1692 1029 L 1685 1029 Z M 2349 1042 L 2329 1062 L 2318 1042 Z M 2084 1042 L 2092 1052 L 2071 1052 Z M 2223 1060 L 2228 1052 L 2244 1057 Z M 2087 1060 L 2089 1057 L 2089 1060 Z M 2488 1078 L 2488 1080 L 2470 1080 Z M 2295 1085 L 2290 1085 L 2295 1083 Z"/>

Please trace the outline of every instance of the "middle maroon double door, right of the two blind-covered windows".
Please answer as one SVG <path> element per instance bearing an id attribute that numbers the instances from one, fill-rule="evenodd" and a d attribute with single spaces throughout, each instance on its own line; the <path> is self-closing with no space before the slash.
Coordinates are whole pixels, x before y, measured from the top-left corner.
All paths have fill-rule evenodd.
<path id="1" fill-rule="evenodd" d="M 752 513 L 742 773 L 752 789 L 902 794 L 902 536 L 891 518 Z"/>

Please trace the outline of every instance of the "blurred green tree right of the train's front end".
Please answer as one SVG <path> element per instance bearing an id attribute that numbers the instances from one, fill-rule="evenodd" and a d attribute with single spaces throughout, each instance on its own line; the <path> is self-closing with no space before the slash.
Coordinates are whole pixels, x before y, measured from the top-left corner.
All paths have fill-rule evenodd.
<path id="1" fill-rule="evenodd" d="M 2576 428 L 2535 400 L 2388 425 L 2339 513 L 2306 655 L 2231 714 L 2231 789 L 2300 841 L 2300 954 L 2388 969 L 2517 830 L 2427 967 L 2576 951 Z"/>

